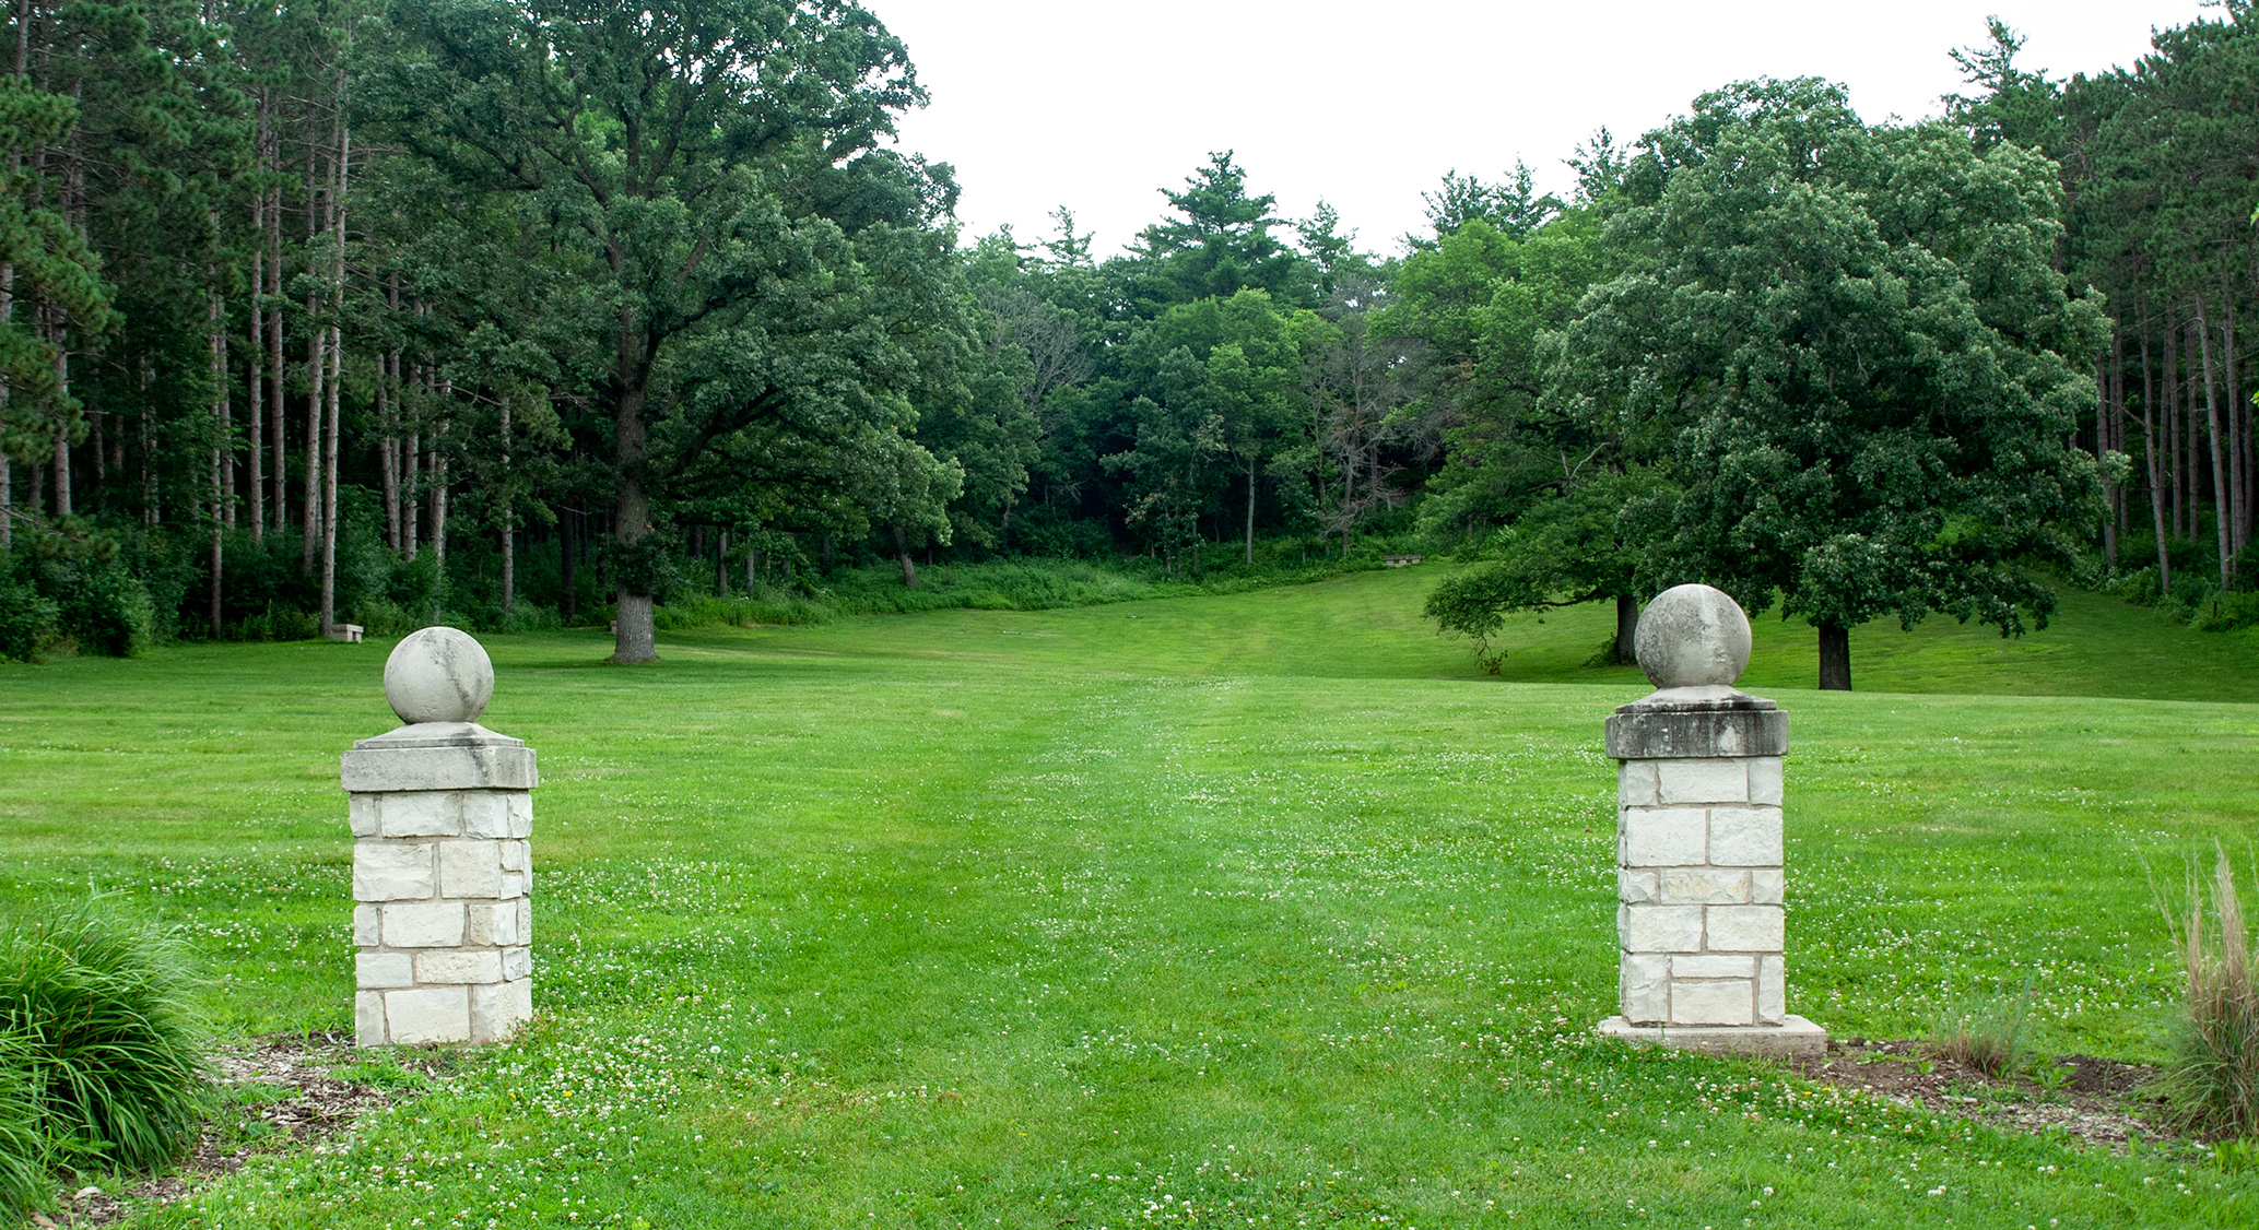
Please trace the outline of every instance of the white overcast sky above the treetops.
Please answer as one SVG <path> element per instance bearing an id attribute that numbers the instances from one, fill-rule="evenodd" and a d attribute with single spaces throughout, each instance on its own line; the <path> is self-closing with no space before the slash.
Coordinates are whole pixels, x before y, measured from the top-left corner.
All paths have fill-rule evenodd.
<path id="1" fill-rule="evenodd" d="M 1866 120 L 1916 120 L 1961 88 L 1952 47 L 1986 14 L 2029 36 L 2020 63 L 2105 72 L 2200 0 L 865 0 L 910 47 L 933 106 L 901 144 L 951 162 L 967 237 L 1021 241 L 1075 210 L 1111 253 L 1211 149 L 1236 149 L 1283 217 L 1319 196 L 1367 251 L 1421 230 L 1444 172 L 1498 178 L 1520 156 L 1565 192 L 1593 129 L 1620 144 L 1746 77 L 1828 77 Z"/>

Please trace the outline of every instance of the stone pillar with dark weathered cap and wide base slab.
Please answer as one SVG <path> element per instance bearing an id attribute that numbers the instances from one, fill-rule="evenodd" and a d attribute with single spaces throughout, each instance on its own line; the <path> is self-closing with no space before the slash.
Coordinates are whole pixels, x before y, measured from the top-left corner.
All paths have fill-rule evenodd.
<path id="1" fill-rule="evenodd" d="M 1733 686 L 1748 666 L 1748 616 L 1708 585 L 1681 585 L 1647 605 L 1636 648 L 1656 693 L 1608 718 L 1622 1016 L 1599 1031 L 1825 1054 L 1828 1034 L 1789 1013 L 1782 989 L 1789 715 Z"/>

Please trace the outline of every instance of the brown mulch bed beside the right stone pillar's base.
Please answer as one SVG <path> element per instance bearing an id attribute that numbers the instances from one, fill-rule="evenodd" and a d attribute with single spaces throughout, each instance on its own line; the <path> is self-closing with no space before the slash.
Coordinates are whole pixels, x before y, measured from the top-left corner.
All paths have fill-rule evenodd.
<path id="1" fill-rule="evenodd" d="M 2142 1090 L 2155 1068 L 2067 1054 L 2056 1058 L 2069 1079 L 2056 1088 L 2029 1074 L 1986 1077 L 1934 1054 L 1922 1043 L 1828 1043 L 1825 1061 L 1794 1065 L 1809 1081 L 1889 1097 L 2026 1133 L 2069 1133 L 2087 1144 L 2123 1153 L 2130 1135 L 2171 1140 L 2178 1133 L 2155 1119 L 2155 1101 Z"/>

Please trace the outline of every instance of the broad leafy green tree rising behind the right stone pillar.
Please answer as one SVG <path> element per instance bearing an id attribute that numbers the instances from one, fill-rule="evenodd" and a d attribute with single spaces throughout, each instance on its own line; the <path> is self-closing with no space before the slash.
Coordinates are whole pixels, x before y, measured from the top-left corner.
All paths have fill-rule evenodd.
<path id="1" fill-rule="evenodd" d="M 1706 580 L 1818 630 L 1929 612 L 2022 632 L 2031 571 L 2099 521 L 2099 302 L 2053 266 L 2056 169 L 1947 124 L 1870 129 L 1841 88 L 1758 81 L 1647 138 L 1608 237 L 1626 271 L 1565 330 L 1547 397 L 1672 431 L 1685 494 L 1651 587 Z"/>

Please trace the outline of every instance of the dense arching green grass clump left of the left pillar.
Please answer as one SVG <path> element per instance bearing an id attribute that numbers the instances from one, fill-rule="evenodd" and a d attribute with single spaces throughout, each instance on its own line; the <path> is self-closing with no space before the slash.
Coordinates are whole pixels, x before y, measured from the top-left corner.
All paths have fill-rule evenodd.
<path id="1" fill-rule="evenodd" d="M 197 1137 L 210 1086 L 187 986 L 169 939 L 102 898 L 7 928 L 0 1036 L 54 1160 L 140 1169 Z"/>

